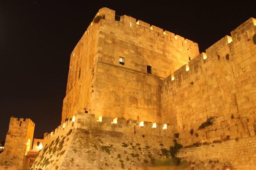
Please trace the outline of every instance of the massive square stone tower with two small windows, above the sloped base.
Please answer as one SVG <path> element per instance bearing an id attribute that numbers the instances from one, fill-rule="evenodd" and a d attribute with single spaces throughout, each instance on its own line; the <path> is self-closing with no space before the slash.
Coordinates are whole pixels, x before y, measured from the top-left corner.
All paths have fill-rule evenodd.
<path id="1" fill-rule="evenodd" d="M 62 123 L 83 108 L 161 122 L 162 80 L 198 54 L 193 41 L 101 8 L 71 53 Z"/>

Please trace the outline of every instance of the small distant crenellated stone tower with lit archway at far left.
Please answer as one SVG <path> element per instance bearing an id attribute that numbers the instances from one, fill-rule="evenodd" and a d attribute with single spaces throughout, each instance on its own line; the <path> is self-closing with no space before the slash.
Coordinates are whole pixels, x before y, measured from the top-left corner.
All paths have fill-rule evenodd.
<path id="1" fill-rule="evenodd" d="M 28 169 L 28 151 L 32 148 L 35 124 L 30 119 L 11 117 L 5 139 L 5 150 L 0 154 L 0 166 Z"/>

